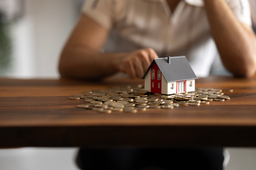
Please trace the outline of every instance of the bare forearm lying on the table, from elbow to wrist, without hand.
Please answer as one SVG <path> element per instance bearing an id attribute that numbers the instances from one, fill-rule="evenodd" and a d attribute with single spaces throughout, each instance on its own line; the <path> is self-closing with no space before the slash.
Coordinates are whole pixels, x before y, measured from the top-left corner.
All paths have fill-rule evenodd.
<path id="1" fill-rule="evenodd" d="M 102 79 L 120 71 L 124 53 L 100 53 L 81 47 L 68 47 L 62 52 L 59 72 L 62 77 Z"/>

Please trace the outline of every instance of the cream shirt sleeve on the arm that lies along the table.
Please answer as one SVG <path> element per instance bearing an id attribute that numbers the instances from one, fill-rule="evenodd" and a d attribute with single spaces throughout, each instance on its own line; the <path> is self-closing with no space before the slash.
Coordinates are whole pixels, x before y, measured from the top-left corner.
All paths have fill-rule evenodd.
<path id="1" fill-rule="evenodd" d="M 113 24 L 111 4 L 111 0 L 86 0 L 82 7 L 82 14 L 109 30 Z"/>

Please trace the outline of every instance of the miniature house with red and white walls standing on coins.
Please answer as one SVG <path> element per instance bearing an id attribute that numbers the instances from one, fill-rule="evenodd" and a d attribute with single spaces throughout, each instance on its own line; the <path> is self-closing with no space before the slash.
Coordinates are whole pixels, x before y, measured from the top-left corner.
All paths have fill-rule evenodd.
<path id="1" fill-rule="evenodd" d="M 197 76 L 186 57 L 179 56 L 154 59 L 142 79 L 149 92 L 174 94 L 195 91 Z"/>

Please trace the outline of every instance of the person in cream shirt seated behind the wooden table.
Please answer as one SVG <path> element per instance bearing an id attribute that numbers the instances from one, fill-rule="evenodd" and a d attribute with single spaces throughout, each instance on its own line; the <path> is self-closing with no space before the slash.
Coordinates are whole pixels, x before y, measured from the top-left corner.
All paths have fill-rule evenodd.
<path id="1" fill-rule="evenodd" d="M 198 77 L 220 56 L 234 76 L 256 72 L 247 0 L 88 0 L 61 54 L 62 77 L 141 78 L 153 59 L 185 55 Z M 189 141 L 188 141 L 189 142 Z M 222 169 L 222 148 L 80 149 L 82 169 Z"/>

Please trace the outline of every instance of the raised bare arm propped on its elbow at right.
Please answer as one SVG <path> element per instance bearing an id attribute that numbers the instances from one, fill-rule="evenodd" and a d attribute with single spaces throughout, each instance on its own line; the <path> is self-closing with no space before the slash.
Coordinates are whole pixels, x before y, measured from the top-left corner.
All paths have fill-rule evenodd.
<path id="1" fill-rule="evenodd" d="M 256 73 L 256 37 L 240 23 L 226 1 L 204 0 L 211 32 L 224 66 L 235 76 Z"/>

